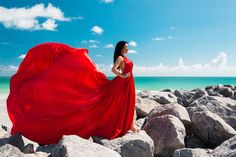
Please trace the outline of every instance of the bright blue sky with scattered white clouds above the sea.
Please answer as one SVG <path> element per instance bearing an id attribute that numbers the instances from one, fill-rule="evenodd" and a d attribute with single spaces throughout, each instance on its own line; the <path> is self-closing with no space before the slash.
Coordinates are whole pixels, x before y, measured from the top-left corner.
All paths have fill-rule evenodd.
<path id="1" fill-rule="evenodd" d="M 112 75 L 119 40 L 136 76 L 236 76 L 235 16 L 234 0 L 2 0 L 0 76 L 42 42 L 88 48 Z"/>

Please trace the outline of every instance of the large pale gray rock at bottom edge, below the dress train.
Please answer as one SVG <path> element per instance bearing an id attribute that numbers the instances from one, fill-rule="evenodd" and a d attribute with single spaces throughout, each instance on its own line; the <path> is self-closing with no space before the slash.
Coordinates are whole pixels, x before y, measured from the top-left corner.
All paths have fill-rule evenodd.
<path id="1" fill-rule="evenodd" d="M 120 157 L 119 153 L 76 135 L 63 136 L 53 157 Z"/>

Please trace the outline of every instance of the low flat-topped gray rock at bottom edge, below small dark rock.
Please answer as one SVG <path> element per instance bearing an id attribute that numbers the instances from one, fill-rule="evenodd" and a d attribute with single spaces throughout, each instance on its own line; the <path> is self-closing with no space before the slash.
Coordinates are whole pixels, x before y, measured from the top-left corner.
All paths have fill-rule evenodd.
<path id="1" fill-rule="evenodd" d="M 174 157 L 213 157 L 211 150 L 200 148 L 182 148 L 178 149 L 174 153 Z"/>

